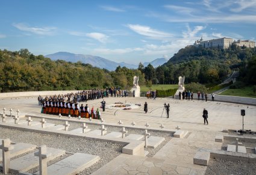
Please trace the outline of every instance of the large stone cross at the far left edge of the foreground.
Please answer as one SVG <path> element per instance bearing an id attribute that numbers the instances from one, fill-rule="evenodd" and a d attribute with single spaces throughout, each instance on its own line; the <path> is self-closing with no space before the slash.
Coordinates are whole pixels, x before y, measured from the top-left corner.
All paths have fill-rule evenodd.
<path id="1" fill-rule="evenodd" d="M 4 174 L 9 173 L 10 168 L 10 150 L 13 150 L 13 146 L 10 146 L 10 139 L 7 138 L 2 140 L 2 145 L 0 149 L 2 149 L 2 172 Z"/>

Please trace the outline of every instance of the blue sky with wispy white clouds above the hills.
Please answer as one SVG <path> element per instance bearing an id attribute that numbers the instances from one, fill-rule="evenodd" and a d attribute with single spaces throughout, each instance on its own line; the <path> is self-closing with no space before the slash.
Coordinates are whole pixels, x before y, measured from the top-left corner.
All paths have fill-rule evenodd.
<path id="1" fill-rule="evenodd" d="M 201 37 L 256 37 L 256 0 L 1 0 L 0 18 L 0 49 L 118 63 L 169 59 Z"/>

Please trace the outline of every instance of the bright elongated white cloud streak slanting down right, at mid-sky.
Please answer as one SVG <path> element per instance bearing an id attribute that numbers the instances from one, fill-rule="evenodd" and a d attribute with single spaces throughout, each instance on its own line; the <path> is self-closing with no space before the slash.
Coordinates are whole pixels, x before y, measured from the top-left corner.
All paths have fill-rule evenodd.
<path id="1" fill-rule="evenodd" d="M 156 40 L 167 40 L 171 37 L 173 37 L 172 34 L 169 34 L 167 32 L 158 31 L 157 29 L 152 29 L 149 26 L 143 26 L 143 25 L 132 25 L 128 24 L 128 28 L 133 30 L 134 32 L 144 35 L 149 38 L 153 38 Z"/>

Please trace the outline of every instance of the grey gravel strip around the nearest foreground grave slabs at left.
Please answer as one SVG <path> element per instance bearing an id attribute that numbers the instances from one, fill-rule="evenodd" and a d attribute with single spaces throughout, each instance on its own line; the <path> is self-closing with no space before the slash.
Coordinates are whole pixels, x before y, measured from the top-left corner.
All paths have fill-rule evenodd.
<path id="1" fill-rule="evenodd" d="M 86 168 L 81 174 L 91 174 L 103 165 L 122 153 L 122 145 L 103 141 L 86 140 L 81 138 L 68 138 L 57 135 L 38 134 L 34 132 L 0 127 L 0 138 L 10 138 L 12 142 L 30 143 L 37 146 L 46 144 L 48 147 L 63 149 L 70 153 L 87 153 L 99 156 L 100 160 L 91 167 Z M 54 160 L 55 162 L 56 160 Z M 58 160 L 57 160 L 58 161 Z M 35 169 L 34 171 L 37 171 Z"/>

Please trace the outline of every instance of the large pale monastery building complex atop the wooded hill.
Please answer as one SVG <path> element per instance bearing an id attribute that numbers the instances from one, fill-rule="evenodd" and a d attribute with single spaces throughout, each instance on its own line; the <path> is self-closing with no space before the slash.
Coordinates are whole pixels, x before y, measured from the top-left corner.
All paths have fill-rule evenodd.
<path id="1" fill-rule="evenodd" d="M 213 40 L 206 40 L 204 41 L 201 37 L 200 40 L 196 40 L 193 46 L 203 46 L 204 48 L 221 48 L 227 49 L 235 43 L 237 46 L 246 46 L 246 48 L 254 48 L 255 42 L 250 40 L 237 40 L 235 41 L 233 38 L 217 38 Z"/>

